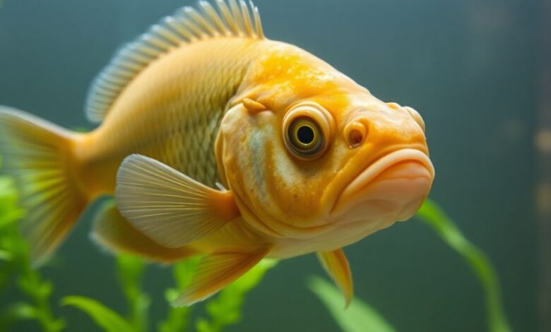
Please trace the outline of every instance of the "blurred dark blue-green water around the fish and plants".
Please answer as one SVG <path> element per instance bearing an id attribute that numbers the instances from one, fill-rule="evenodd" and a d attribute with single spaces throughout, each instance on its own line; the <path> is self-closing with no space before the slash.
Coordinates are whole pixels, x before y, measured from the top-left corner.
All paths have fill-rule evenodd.
<path id="1" fill-rule="evenodd" d="M 95 74 L 124 42 L 189 4 L 195 2 L 3 0 L 0 104 L 71 129 L 92 129 L 83 102 Z M 550 36 L 543 26 L 545 1 L 255 4 L 268 38 L 307 49 L 381 100 L 420 112 L 437 172 L 430 197 L 491 259 L 511 328 L 537 331 L 544 313 L 538 309 L 534 137 L 541 72 L 551 65 L 542 53 Z M 100 330 L 83 312 L 60 307 L 62 297 L 83 295 L 126 310 L 112 255 L 88 237 L 100 204 L 88 208 L 42 270 L 54 285 L 54 313 L 66 318 L 68 331 Z M 397 331 L 487 331 L 480 283 L 419 219 L 345 251 L 355 297 Z M 281 261 L 247 295 L 242 321 L 225 331 L 339 331 L 307 287 L 309 275 L 324 275 L 315 255 Z M 152 331 L 165 315 L 164 292 L 173 284 L 170 268 L 148 267 L 143 288 L 151 297 Z M 9 287 L 0 293 L 0 307 L 19 298 L 16 287 Z M 40 330 L 23 322 L 13 331 Z"/>

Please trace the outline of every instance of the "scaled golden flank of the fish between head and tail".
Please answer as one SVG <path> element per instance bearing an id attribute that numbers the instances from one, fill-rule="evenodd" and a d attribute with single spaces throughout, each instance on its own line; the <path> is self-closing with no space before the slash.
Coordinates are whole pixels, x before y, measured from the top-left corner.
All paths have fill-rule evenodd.
<path id="1" fill-rule="evenodd" d="M 260 43 L 206 40 L 183 45 L 150 64 L 119 96 L 102 126 L 77 146 L 86 151 L 81 157 L 85 172 L 105 174 L 112 160 L 141 153 L 214 187 L 220 182 L 213 149 L 220 120 L 247 64 L 258 54 L 251 48 Z M 114 174 L 116 167 L 108 172 Z M 114 176 L 93 181 L 104 178 Z M 98 190 L 112 187 L 108 181 Z"/>

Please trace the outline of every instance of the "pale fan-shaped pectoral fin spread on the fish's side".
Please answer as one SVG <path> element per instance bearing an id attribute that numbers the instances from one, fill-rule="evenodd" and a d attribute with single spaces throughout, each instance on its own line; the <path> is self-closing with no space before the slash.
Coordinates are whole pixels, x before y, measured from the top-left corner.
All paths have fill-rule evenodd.
<path id="1" fill-rule="evenodd" d="M 231 191 L 209 188 L 143 155 L 122 162 L 116 198 L 126 220 L 171 248 L 210 235 L 239 216 Z"/>

